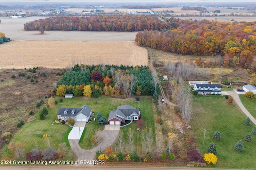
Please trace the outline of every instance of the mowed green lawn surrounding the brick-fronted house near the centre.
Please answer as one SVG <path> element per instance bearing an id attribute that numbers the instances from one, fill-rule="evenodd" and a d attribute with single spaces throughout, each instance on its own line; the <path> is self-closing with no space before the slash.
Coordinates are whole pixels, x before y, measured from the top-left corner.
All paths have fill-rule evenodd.
<path id="1" fill-rule="evenodd" d="M 152 127 L 154 129 L 154 119 L 153 119 L 153 111 L 152 111 L 152 98 L 149 96 L 141 97 L 140 101 L 135 101 L 134 98 L 126 98 L 126 99 L 117 99 L 110 98 L 108 96 L 100 96 L 100 98 L 91 98 L 90 100 L 86 100 L 86 104 L 92 107 L 94 113 L 94 117 L 97 119 L 97 113 L 102 113 L 103 117 L 108 119 L 109 112 L 112 109 L 116 109 L 116 107 L 128 104 L 133 107 L 140 107 L 142 119 L 146 122 L 146 127 Z M 96 104 L 97 100 L 97 104 Z M 104 130 L 104 126 L 98 125 L 97 120 L 91 121 L 86 124 L 86 130 L 83 132 L 83 138 L 80 140 L 79 145 L 83 149 L 91 149 L 92 145 L 90 142 L 90 138 L 95 134 L 97 130 Z M 134 143 L 137 143 L 134 147 L 134 150 L 138 153 L 142 153 L 142 145 L 140 142 L 140 134 L 141 132 L 137 131 L 136 121 L 132 122 L 131 125 L 120 127 L 120 130 L 124 132 L 124 142 L 127 140 L 127 132 L 128 129 L 131 128 L 134 131 Z M 114 148 L 114 147 L 113 147 Z M 126 150 L 124 152 L 129 152 L 129 149 L 125 147 Z"/>

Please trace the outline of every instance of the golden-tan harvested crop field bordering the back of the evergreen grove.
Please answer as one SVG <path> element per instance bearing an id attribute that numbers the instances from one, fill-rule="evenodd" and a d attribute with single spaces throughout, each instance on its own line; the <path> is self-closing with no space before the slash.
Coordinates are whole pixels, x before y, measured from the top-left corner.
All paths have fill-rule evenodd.
<path id="1" fill-rule="evenodd" d="M 1 44 L 0 68 L 65 68 L 76 63 L 148 65 L 134 41 L 11 41 Z"/>

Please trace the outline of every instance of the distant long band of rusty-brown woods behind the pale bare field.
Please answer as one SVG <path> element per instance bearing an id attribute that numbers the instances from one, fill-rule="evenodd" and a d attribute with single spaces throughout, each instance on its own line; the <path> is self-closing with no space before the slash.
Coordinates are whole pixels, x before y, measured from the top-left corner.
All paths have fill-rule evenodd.
<path id="1" fill-rule="evenodd" d="M 143 31 L 168 30 L 168 25 L 153 16 L 60 16 L 30 21 L 24 24 L 25 30 L 64 30 L 64 31 Z"/>

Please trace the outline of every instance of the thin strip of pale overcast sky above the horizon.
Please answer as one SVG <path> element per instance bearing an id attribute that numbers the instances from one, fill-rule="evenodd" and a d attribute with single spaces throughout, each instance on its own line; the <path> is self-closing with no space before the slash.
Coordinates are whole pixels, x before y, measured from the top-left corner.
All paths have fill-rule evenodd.
<path id="1" fill-rule="evenodd" d="M 183 2 L 183 3 L 191 3 L 191 2 L 223 2 L 223 3 L 242 3 L 242 2 L 252 2 L 252 3 L 256 3 L 256 0 L 0 0 L 0 4 L 1 2 L 60 2 L 60 3 L 67 3 L 67 2 L 71 2 L 71 3 L 136 3 L 136 4 L 164 4 L 164 3 L 171 3 L 171 2 Z"/>

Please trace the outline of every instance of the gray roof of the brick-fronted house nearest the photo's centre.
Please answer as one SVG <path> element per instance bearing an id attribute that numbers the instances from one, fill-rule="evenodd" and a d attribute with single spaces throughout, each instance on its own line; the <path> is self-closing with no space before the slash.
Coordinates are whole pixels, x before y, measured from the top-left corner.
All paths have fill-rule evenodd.
<path id="1" fill-rule="evenodd" d="M 131 116 L 132 114 L 140 116 L 140 109 L 136 109 L 136 107 L 132 107 L 130 105 L 122 105 L 118 106 L 117 109 L 113 109 L 109 112 L 108 120 L 116 118 L 118 120 L 122 120 L 126 116 Z"/>

